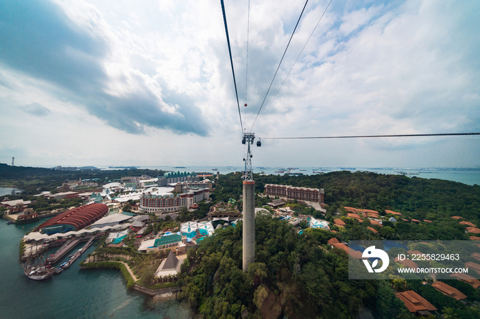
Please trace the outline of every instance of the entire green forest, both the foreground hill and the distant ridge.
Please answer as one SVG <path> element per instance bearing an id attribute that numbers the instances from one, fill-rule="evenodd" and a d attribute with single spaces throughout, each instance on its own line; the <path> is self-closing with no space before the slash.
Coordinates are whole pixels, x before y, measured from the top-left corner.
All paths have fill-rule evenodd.
<path id="1" fill-rule="evenodd" d="M 330 249 L 327 240 L 467 240 L 465 226 L 452 216 L 480 224 L 480 187 L 453 181 L 409 178 L 401 175 L 334 172 L 315 176 L 255 175 L 256 192 L 266 183 L 324 188 L 326 215 L 304 214 L 333 220 L 345 215 L 345 206 L 401 212 L 403 217 L 433 222 L 383 222 L 372 226 L 341 217 L 346 227 L 338 233 L 309 229 L 299 235 L 287 222 L 256 218 L 256 262 L 248 272 L 241 270 L 242 224 L 217 231 L 189 251 L 195 266 L 180 284 L 184 298 L 204 318 L 415 318 L 394 296 L 396 291 L 414 290 L 431 301 L 444 318 L 479 318 L 475 307 L 467 307 L 421 281 L 355 281 L 348 279 L 348 257 Z M 212 194 L 215 201 L 240 199 L 240 174 L 221 175 Z M 256 196 L 256 205 L 269 201 Z M 299 206 L 301 207 L 301 206 Z M 307 212 L 308 211 L 308 212 Z M 373 227 L 374 234 L 366 227 Z M 449 285 L 464 292 L 468 301 L 479 301 L 477 290 L 461 281 Z M 395 290 L 394 290 L 395 288 Z M 369 314 L 370 313 L 370 314 Z M 433 317 L 432 317 L 433 318 Z"/>

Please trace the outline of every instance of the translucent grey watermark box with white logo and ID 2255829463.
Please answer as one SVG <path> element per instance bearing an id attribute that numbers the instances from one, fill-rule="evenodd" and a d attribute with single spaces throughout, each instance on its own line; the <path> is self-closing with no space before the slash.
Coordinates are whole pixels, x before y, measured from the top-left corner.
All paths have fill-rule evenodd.
<path id="1" fill-rule="evenodd" d="M 480 279 L 472 240 L 358 240 L 348 243 L 349 279 Z M 480 281 L 478 281 L 480 285 Z"/>

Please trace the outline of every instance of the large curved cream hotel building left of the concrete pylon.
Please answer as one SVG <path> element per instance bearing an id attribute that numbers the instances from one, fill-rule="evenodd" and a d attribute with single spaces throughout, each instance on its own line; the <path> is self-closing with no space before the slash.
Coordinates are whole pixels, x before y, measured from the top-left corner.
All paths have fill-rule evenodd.
<path id="1" fill-rule="evenodd" d="M 141 194 L 139 212 L 175 212 L 182 207 L 189 209 L 193 204 L 208 200 L 210 190 L 191 189 L 186 193 L 177 195 L 153 195 L 151 193 Z"/>

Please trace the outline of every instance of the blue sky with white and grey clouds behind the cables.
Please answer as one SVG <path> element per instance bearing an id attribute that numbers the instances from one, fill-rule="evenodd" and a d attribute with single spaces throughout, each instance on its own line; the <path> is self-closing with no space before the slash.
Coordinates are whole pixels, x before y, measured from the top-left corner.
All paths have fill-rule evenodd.
<path id="1" fill-rule="evenodd" d="M 225 1 L 253 166 L 480 165 L 480 136 L 267 139 L 480 132 L 480 1 L 328 2 L 308 1 L 267 94 L 304 1 Z M 246 151 L 218 0 L 0 1 L 0 114 L 16 166 Z"/>

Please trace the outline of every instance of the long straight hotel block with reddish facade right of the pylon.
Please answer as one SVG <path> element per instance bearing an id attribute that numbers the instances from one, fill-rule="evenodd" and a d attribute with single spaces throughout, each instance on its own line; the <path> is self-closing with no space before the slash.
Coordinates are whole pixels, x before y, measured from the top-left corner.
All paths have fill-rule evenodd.
<path id="1" fill-rule="evenodd" d="M 286 199 L 296 199 L 298 201 L 311 201 L 315 203 L 324 203 L 325 191 L 323 188 L 293 187 L 287 185 L 266 184 L 265 195 L 285 197 Z"/>

